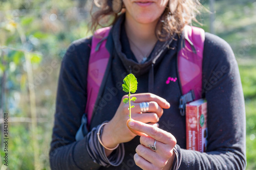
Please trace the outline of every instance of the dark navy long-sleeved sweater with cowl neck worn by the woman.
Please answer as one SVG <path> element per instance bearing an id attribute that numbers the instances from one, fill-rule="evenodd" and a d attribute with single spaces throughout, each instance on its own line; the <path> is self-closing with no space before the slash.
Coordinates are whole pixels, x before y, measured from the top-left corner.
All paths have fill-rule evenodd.
<path id="1" fill-rule="evenodd" d="M 172 40 L 156 58 L 164 42 L 158 41 L 150 58 L 139 64 L 127 40 L 119 19 L 112 28 L 106 48 L 111 68 L 102 87 L 90 130 L 110 120 L 125 92 L 123 78 L 131 71 L 138 80 L 136 93 L 148 92 L 149 72 L 154 63 L 154 93 L 170 103 L 159 120 L 159 128 L 172 133 L 177 139 L 179 169 L 244 169 L 245 157 L 245 105 L 238 65 L 230 46 L 221 38 L 206 33 L 203 53 L 203 97 L 208 102 L 208 144 L 205 153 L 186 150 L 185 117 L 179 113 L 182 95 L 179 81 L 166 84 L 168 77 L 177 77 L 177 53 L 181 38 Z M 79 39 L 71 44 L 61 63 L 58 82 L 55 122 L 50 150 L 52 169 L 140 169 L 133 160 L 139 137 L 124 143 L 123 162 L 115 167 L 103 167 L 93 162 L 88 154 L 85 137 L 75 140 L 81 117 L 87 103 L 87 68 L 91 38 Z M 106 96 L 118 89 L 111 100 Z"/>

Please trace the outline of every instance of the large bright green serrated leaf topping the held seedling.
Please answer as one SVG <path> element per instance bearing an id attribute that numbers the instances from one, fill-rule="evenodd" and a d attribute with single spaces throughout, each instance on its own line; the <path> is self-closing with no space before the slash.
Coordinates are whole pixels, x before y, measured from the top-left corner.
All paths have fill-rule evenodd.
<path id="1" fill-rule="evenodd" d="M 137 90 L 137 79 L 135 78 L 135 76 L 133 74 L 129 74 L 127 75 L 124 79 L 123 79 L 123 83 L 122 87 L 123 87 L 123 91 L 125 92 L 131 92 L 131 93 L 135 93 L 135 91 Z"/>

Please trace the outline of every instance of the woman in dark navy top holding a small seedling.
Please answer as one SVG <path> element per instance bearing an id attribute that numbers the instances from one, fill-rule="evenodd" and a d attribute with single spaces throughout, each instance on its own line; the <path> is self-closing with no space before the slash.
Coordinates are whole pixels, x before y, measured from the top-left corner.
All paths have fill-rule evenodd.
<path id="1" fill-rule="evenodd" d="M 184 27 L 197 13 L 197 0 L 104 0 L 92 19 L 114 19 L 106 39 L 110 68 L 88 132 L 76 138 L 88 102 L 87 76 L 92 37 L 72 43 L 63 58 L 50 150 L 52 169 L 244 169 L 245 108 L 238 65 L 230 46 L 205 34 L 202 97 L 208 107 L 204 153 L 186 150 L 185 116 L 177 55 Z M 95 29 L 94 29 L 95 30 Z M 138 80 L 129 123 L 122 102 L 123 78 Z M 84 117 L 83 117 L 84 118 Z M 85 118 L 86 119 L 86 118 Z M 83 122 L 84 123 L 84 122 Z M 87 131 L 87 129 L 85 130 Z M 150 148 L 148 148 L 150 147 Z"/>

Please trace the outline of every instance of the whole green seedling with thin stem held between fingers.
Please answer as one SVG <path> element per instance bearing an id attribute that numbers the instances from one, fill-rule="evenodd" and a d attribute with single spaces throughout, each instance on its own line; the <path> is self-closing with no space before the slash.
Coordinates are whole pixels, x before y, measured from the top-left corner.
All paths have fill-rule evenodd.
<path id="1" fill-rule="evenodd" d="M 122 84 L 123 91 L 129 93 L 128 94 L 129 99 L 125 98 L 123 100 L 123 103 L 128 103 L 129 102 L 128 110 L 130 111 L 130 115 L 129 115 L 130 120 L 131 120 L 131 109 L 134 108 L 134 106 L 131 106 L 131 101 L 136 100 L 135 97 L 132 97 L 132 99 L 131 99 L 131 93 L 136 92 L 137 84 L 138 84 L 137 79 L 133 74 L 129 74 L 123 79 L 123 84 Z"/>

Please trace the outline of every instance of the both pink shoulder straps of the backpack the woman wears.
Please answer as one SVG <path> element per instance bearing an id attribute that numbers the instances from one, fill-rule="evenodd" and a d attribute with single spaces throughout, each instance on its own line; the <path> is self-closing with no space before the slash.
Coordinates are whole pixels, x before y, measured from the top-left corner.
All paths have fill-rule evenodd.
<path id="1" fill-rule="evenodd" d="M 87 76 L 86 113 L 88 124 L 91 122 L 99 88 L 110 58 L 110 54 L 105 47 L 110 30 L 110 27 L 99 29 L 92 38 Z M 186 103 L 201 98 L 205 33 L 203 29 L 185 26 L 184 37 L 185 45 L 178 54 L 178 72 L 183 94 L 179 106 L 181 115 L 185 115 Z"/>

